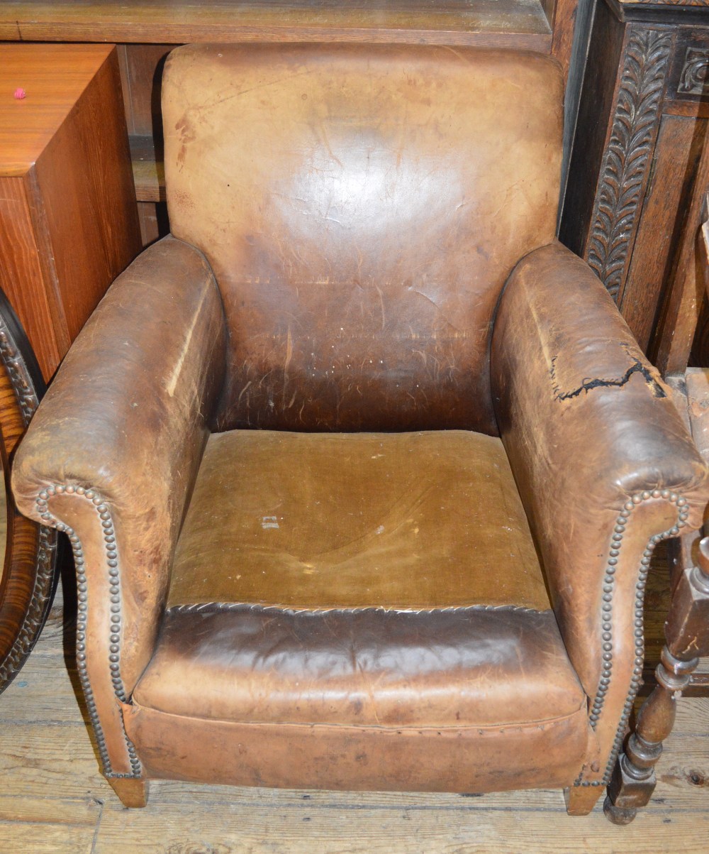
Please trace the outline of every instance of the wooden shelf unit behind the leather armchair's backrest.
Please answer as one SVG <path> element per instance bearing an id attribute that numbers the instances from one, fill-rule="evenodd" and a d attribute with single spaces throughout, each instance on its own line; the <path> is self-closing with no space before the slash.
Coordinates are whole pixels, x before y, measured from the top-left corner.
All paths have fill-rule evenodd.
<path id="1" fill-rule="evenodd" d="M 0 4 L 0 41 L 119 43 L 142 242 L 167 233 L 160 74 L 185 42 L 472 44 L 551 53 L 568 73 L 578 0 L 97 0 Z"/>

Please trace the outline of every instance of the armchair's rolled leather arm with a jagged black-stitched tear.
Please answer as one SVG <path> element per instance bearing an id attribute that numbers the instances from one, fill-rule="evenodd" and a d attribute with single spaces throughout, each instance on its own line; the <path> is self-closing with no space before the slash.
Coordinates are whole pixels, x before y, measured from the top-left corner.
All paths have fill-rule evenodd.
<path id="1" fill-rule="evenodd" d="M 527 255 L 509 277 L 491 383 L 561 634 L 607 756 L 642 673 L 649 554 L 656 541 L 701 524 L 706 465 L 607 290 L 560 243 Z"/>

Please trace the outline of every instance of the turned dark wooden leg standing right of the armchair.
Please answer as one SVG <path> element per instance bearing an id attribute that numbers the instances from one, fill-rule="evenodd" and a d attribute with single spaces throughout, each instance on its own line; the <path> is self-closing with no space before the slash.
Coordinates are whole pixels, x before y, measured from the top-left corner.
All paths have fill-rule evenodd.
<path id="1" fill-rule="evenodd" d="M 608 783 L 603 811 L 615 824 L 631 822 L 652 796 L 657 782 L 654 765 L 672 731 L 677 699 L 700 656 L 709 652 L 709 537 L 700 542 L 699 556 L 700 565 L 685 570 L 677 582 L 665 623 L 667 642 L 655 671 L 657 685 L 642 704 L 635 732 Z"/>

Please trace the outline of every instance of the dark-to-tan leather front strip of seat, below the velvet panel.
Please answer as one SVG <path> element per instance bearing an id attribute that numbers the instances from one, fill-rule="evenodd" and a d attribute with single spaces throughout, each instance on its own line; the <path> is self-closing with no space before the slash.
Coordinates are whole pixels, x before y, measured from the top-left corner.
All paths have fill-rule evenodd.
<path id="1" fill-rule="evenodd" d="M 554 614 L 512 608 L 171 610 L 133 699 L 187 717 L 392 728 L 532 726 L 586 703 Z"/>

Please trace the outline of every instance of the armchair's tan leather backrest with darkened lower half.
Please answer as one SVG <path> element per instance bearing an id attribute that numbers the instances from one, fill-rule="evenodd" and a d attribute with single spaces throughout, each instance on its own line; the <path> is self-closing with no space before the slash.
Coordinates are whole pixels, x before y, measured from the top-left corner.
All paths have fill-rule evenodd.
<path id="1" fill-rule="evenodd" d="M 555 235 L 561 107 L 526 52 L 174 50 L 167 202 L 224 299 L 218 429 L 496 433 L 491 323 Z"/>

